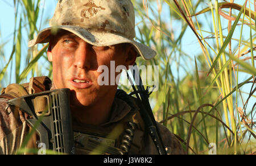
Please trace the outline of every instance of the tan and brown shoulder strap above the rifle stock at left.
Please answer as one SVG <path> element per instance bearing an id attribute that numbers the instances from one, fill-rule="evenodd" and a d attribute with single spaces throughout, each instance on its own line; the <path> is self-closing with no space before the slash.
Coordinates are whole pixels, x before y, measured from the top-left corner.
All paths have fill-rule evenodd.
<path id="1" fill-rule="evenodd" d="M 13 99 L 17 97 L 26 96 L 28 94 L 34 94 L 44 92 L 51 88 L 51 79 L 47 76 L 32 77 L 30 82 L 25 84 L 10 84 L 6 88 L 1 90 L 0 98 Z"/>

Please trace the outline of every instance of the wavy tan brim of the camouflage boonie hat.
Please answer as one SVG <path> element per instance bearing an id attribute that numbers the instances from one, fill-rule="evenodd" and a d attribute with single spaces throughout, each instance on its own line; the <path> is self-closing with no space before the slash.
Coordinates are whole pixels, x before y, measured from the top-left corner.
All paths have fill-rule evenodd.
<path id="1" fill-rule="evenodd" d="M 121 43 L 130 43 L 134 45 L 134 48 L 144 60 L 150 60 L 156 56 L 156 52 L 147 45 L 135 42 L 134 40 L 129 40 L 121 35 L 88 31 L 85 28 L 77 26 L 57 26 L 46 28 L 40 31 L 34 40 L 28 42 L 28 47 L 33 47 L 38 43 L 48 43 L 50 36 L 52 34 L 56 34 L 54 32 L 57 32 L 59 29 L 72 32 L 73 34 L 79 36 L 79 38 L 83 39 L 85 42 L 99 47 Z"/>

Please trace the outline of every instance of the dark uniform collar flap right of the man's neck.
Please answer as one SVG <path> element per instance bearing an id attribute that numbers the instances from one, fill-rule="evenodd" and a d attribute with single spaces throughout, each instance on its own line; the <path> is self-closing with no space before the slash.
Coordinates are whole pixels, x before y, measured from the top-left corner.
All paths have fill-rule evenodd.
<path id="1" fill-rule="evenodd" d="M 51 90 L 54 90 L 55 86 L 52 81 L 52 87 Z M 119 122 L 123 118 L 126 117 L 128 113 L 130 113 L 131 107 L 122 99 L 119 99 L 117 97 L 114 98 L 112 109 L 110 111 L 109 120 L 106 123 L 101 124 L 101 126 L 106 126 L 111 123 Z"/>

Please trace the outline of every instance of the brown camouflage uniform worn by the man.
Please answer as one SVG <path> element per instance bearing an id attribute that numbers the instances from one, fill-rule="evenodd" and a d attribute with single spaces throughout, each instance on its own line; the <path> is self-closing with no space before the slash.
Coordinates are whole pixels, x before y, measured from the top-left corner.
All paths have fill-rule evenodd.
<path id="1" fill-rule="evenodd" d="M 108 136 L 109 139 L 114 140 L 114 146 L 119 147 L 121 146 L 127 123 L 133 122 L 136 124 L 137 128 L 134 130 L 134 136 L 128 154 L 158 154 L 155 144 L 144 130 L 144 123 L 139 114 L 139 106 L 137 105 L 136 99 L 133 97 L 130 97 L 130 99 L 134 103 L 132 106 L 126 101 L 115 97 L 108 122 L 101 124 L 100 126 L 92 126 L 79 123 L 73 119 L 73 130 L 76 131 L 76 134 L 87 133 L 102 137 Z M 24 138 L 26 138 L 29 127 L 27 126 L 25 121 L 26 118 L 21 111 L 12 107 L 9 107 L 6 111 L 6 101 L 7 99 L 0 98 L 0 154 L 13 154 L 20 148 Z M 174 134 L 162 124 L 157 124 L 164 146 L 166 146 L 167 153 L 172 155 L 185 154 Z M 83 144 L 82 141 L 78 140 L 76 134 L 74 134 L 76 154 L 90 153 L 88 148 L 84 148 L 86 143 Z M 114 149 L 113 153 L 116 152 L 115 150 L 116 149 Z M 110 150 L 109 152 L 112 151 Z M 109 152 L 106 151 L 102 153 Z"/>

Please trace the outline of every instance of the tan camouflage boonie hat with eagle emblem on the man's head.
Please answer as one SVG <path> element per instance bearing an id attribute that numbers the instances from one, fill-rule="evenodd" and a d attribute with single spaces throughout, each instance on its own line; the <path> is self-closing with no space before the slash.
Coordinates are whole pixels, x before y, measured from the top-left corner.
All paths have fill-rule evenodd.
<path id="1" fill-rule="evenodd" d="M 130 43 L 145 60 L 156 52 L 135 42 L 135 14 L 130 0 L 59 0 L 50 27 L 28 43 L 48 43 L 53 30 L 63 29 L 95 46 Z"/>

